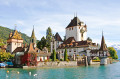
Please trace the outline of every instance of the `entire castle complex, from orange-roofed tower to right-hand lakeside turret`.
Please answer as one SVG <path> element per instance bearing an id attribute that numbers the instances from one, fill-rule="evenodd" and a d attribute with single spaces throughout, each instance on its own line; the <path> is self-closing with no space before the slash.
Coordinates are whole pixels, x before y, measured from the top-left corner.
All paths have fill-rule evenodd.
<path id="1" fill-rule="evenodd" d="M 67 50 L 68 59 L 78 60 L 81 57 L 87 57 L 88 60 L 94 57 L 105 58 L 101 64 L 105 64 L 106 58 L 109 56 L 108 49 L 105 44 L 102 33 L 101 46 L 87 39 L 87 25 L 80 21 L 76 16 L 65 28 L 65 40 L 63 41 L 57 32 L 51 40 L 51 53 L 53 50 L 57 52 L 57 58 L 64 59 L 65 49 Z M 7 40 L 7 51 L 15 54 L 14 63 L 16 65 L 36 66 L 38 62 L 49 60 L 51 53 L 48 53 L 46 47 L 40 50 L 36 47 L 36 37 L 34 27 L 30 37 L 29 45 L 23 44 L 21 34 L 14 30 L 9 34 Z M 90 61 L 89 61 L 90 62 Z"/>

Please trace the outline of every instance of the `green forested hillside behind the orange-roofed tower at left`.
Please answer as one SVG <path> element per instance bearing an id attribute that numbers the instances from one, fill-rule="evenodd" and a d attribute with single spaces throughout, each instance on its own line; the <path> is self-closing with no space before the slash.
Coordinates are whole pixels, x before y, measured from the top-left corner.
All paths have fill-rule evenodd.
<path id="1" fill-rule="evenodd" d="M 4 41 L 6 41 L 9 37 L 9 34 L 11 31 L 13 31 L 13 30 L 9 29 L 7 27 L 0 26 L 0 39 L 3 39 Z M 22 38 L 24 39 L 24 43 L 29 43 L 30 37 L 24 33 L 21 33 L 21 35 L 22 35 Z"/>

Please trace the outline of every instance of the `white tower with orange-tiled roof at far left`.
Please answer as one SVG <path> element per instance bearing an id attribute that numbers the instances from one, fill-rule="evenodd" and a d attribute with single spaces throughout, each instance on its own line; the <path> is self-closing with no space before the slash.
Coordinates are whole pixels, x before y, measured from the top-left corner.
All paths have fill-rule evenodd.
<path id="1" fill-rule="evenodd" d="M 17 47 L 22 47 L 23 39 L 21 34 L 17 30 L 14 30 L 9 34 L 7 39 L 7 51 L 12 53 Z"/>

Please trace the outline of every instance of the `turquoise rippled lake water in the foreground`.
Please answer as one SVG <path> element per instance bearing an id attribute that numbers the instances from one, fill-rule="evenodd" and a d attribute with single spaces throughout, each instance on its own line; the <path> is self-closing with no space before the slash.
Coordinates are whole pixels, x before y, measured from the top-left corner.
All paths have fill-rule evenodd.
<path id="1" fill-rule="evenodd" d="M 31 72 L 31 76 L 29 72 Z M 72 68 L 2 68 L 0 69 L 0 79 L 120 79 L 120 62 L 107 66 Z"/>

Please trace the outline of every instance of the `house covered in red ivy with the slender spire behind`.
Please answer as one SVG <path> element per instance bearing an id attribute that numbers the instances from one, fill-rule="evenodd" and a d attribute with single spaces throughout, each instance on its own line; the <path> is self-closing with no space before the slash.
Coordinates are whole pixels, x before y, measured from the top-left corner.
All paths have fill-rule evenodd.
<path id="1" fill-rule="evenodd" d="M 27 44 L 22 44 L 21 47 L 17 47 L 13 51 L 13 54 L 15 54 L 14 64 L 17 66 L 37 66 L 38 62 L 49 60 L 51 56 L 51 53 L 48 53 L 47 48 L 43 48 L 43 50 L 40 50 L 36 47 L 36 37 L 34 33 L 34 28 L 30 38 L 29 46 Z"/>

